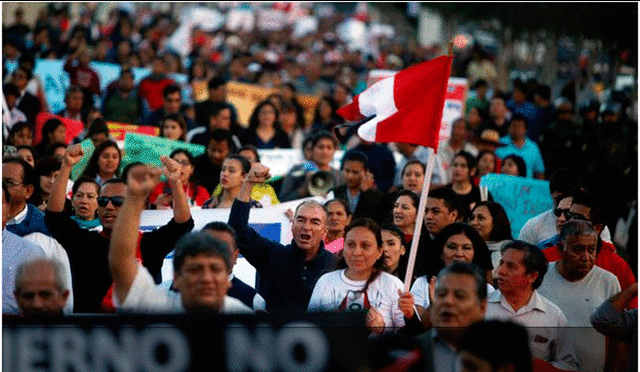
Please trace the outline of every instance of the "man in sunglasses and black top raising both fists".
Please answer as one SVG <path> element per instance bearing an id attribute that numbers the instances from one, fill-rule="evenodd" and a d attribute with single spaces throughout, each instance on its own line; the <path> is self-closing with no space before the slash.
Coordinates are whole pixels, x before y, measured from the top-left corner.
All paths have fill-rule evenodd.
<path id="1" fill-rule="evenodd" d="M 64 211 L 66 184 L 74 164 L 84 152 L 78 145 L 70 147 L 56 178 L 45 212 L 49 231 L 67 251 L 71 263 L 73 292 L 78 299 L 74 312 L 96 313 L 112 284 L 108 253 L 111 231 L 124 202 L 126 184 L 120 179 L 107 181 L 98 196 L 98 218 L 102 232 L 82 229 Z M 149 270 L 156 283 L 161 282 L 160 270 L 165 256 L 185 233 L 193 229 L 193 219 L 187 197 L 180 181 L 180 166 L 169 158 L 162 158 L 163 170 L 173 190 L 173 218 L 166 225 L 138 237 L 137 257 Z M 110 304 L 110 296 L 106 303 Z M 113 310 L 113 309 L 112 309 Z"/>

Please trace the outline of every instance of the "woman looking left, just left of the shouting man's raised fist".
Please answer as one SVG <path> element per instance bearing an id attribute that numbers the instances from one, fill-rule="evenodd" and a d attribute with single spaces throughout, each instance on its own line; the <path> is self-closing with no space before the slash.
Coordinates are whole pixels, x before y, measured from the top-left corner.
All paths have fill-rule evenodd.
<path id="1" fill-rule="evenodd" d="M 220 192 L 216 190 L 202 208 L 231 208 L 233 201 L 242 188 L 242 180 L 251 170 L 251 163 L 241 155 L 229 155 L 222 163 L 220 171 Z M 262 204 L 251 199 L 251 207 L 262 208 Z"/>

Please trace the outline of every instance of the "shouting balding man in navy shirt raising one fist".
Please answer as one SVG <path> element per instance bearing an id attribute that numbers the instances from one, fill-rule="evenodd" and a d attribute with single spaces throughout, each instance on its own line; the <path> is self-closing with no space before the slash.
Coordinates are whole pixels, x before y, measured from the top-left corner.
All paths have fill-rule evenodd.
<path id="1" fill-rule="evenodd" d="M 269 168 L 254 163 L 229 214 L 229 225 L 238 233 L 240 253 L 258 272 L 258 292 L 267 311 L 302 313 L 307 309 L 313 287 L 336 257 L 324 248 L 327 211 L 314 201 L 302 202 L 295 210 L 286 246 L 260 236 L 249 227 L 249 201 L 255 183 L 269 178 Z"/>

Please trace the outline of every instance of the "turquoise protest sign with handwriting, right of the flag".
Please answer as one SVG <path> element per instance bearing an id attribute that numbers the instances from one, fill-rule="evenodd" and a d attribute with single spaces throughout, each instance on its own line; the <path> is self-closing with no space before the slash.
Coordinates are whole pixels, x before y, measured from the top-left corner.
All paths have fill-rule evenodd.
<path id="1" fill-rule="evenodd" d="M 500 203 L 507 212 L 513 236 L 531 217 L 553 207 L 549 194 L 549 181 L 509 176 L 506 174 L 487 174 L 480 179 L 480 186 L 486 187 L 493 200 Z"/>

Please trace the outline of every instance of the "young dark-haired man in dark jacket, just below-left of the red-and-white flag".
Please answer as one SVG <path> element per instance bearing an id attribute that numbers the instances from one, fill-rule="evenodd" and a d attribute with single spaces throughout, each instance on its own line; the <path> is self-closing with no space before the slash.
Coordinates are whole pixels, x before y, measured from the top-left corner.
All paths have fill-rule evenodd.
<path id="1" fill-rule="evenodd" d="M 379 190 L 367 188 L 370 187 L 366 182 L 368 172 L 367 156 L 357 150 L 348 151 L 342 157 L 342 174 L 345 184 L 332 190 L 333 197 L 347 202 L 352 219 L 366 217 L 380 223 L 384 216 L 376 210 L 384 194 Z"/>

